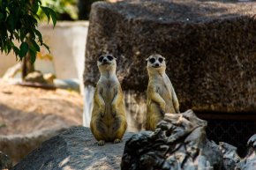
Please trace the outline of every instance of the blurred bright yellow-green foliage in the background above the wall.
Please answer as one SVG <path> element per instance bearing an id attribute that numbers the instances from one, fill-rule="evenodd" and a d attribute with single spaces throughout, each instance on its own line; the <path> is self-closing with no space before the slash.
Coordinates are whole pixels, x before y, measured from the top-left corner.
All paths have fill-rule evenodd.
<path id="1" fill-rule="evenodd" d="M 56 11 L 58 20 L 77 19 L 77 1 L 78 0 L 41 0 L 41 4 L 43 6 L 48 6 L 52 10 Z M 43 11 L 39 10 L 38 14 L 43 18 L 42 12 Z"/>

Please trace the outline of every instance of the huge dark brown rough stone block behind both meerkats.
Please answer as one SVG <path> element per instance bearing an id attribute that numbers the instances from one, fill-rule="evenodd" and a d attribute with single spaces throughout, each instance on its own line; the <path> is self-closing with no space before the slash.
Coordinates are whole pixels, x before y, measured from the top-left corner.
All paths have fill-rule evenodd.
<path id="1" fill-rule="evenodd" d="M 145 92 L 145 58 L 159 53 L 166 57 L 182 110 L 255 112 L 255 6 L 200 0 L 95 3 L 85 85 L 95 85 L 96 60 L 109 52 L 118 58 L 123 90 Z"/>

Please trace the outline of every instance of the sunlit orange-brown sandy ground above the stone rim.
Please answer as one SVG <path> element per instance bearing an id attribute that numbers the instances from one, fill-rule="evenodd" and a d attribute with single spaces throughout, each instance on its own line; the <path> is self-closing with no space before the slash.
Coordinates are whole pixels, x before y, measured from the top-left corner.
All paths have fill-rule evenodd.
<path id="1" fill-rule="evenodd" d="M 77 92 L 10 85 L 0 79 L 1 135 L 81 125 L 82 109 Z"/>

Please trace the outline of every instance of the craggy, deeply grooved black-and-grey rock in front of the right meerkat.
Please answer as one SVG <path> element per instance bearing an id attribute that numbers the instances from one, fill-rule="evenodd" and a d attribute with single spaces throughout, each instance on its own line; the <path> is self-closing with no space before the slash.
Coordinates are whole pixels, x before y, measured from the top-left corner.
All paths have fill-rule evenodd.
<path id="1" fill-rule="evenodd" d="M 207 140 L 206 127 L 192 110 L 166 114 L 154 132 L 140 132 L 126 142 L 121 169 L 222 170 L 222 152 Z"/>

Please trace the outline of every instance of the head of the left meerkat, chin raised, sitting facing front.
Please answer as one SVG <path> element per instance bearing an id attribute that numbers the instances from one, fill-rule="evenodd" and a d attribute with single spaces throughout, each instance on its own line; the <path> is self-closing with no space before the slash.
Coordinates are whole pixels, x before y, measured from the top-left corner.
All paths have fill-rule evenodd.
<path id="1" fill-rule="evenodd" d="M 97 65 L 99 70 L 102 71 L 109 71 L 113 70 L 116 71 L 117 69 L 117 58 L 113 55 L 101 55 L 98 59 Z"/>

